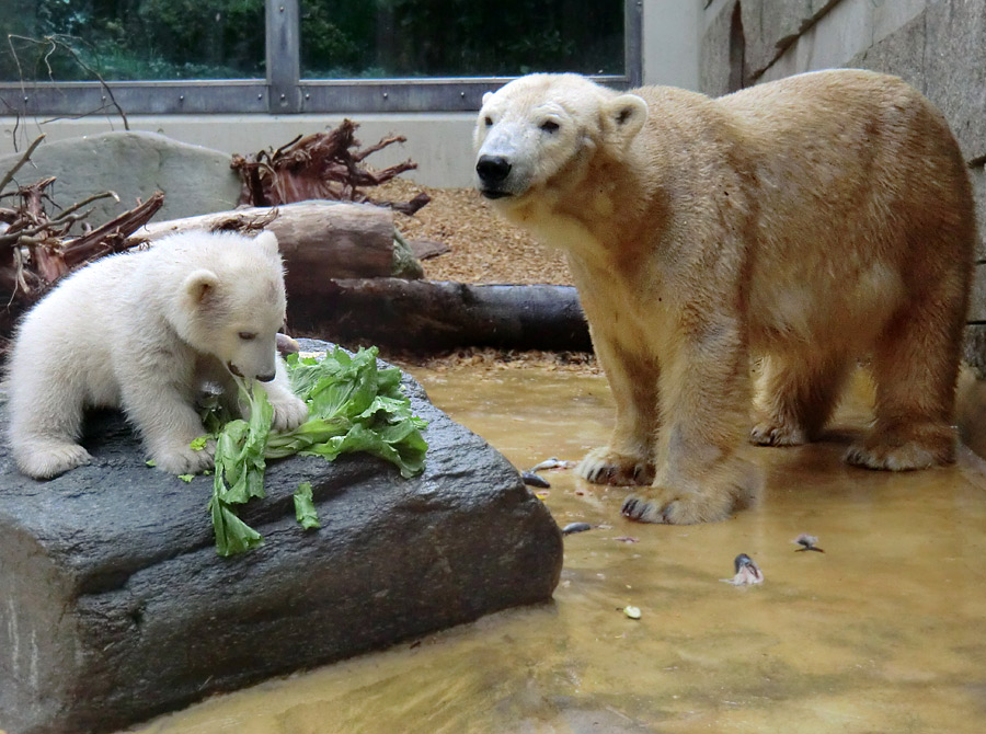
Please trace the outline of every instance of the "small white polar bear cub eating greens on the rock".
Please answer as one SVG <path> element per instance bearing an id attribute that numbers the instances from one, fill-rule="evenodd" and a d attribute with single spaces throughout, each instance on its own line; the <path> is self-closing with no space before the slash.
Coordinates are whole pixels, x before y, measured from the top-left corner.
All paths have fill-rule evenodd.
<path id="1" fill-rule="evenodd" d="M 195 472 L 213 447 L 195 408 L 207 382 L 236 403 L 232 375 L 260 380 L 274 425 L 307 417 L 275 340 L 285 319 L 277 238 L 187 232 L 111 255 L 62 280 L 21 322 L 9 363 L 10 441 L 36 479 L 90 461 L 83 409 L 122 408 L 157 467 Z"/>

